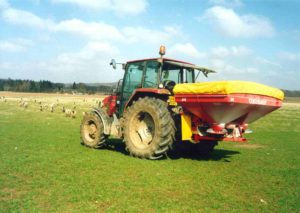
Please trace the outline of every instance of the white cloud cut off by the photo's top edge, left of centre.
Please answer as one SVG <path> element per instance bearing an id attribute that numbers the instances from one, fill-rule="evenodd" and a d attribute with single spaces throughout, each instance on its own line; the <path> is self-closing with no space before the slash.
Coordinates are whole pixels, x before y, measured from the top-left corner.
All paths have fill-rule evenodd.
<path id="1" fill-rule="evenodd" d="M 146 0 L 52 0 L 53 3 L 68 3 L 92 10 L 113 11 L 117 15 L 138 15 L 146 11 Z"/>

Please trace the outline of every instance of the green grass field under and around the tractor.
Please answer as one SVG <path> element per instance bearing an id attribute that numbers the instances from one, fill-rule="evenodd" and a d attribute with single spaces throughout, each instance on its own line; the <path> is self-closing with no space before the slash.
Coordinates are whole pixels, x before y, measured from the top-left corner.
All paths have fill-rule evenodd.
<path id="1" fill-rule="evenodd" d="M 27 109 L 18 99 L 0 101 L 0 212 L 300 211 L 299 104 L 252 124 L 248 144 L 150 161 L 116 139 L 104 150 L 80 145 L 81 112 L 95 97 L 28 96 Z M 60 106 L 39 112 L 34 99 Z M 74 102 L 77 117 L 65 117 L 61 106 Z"/>

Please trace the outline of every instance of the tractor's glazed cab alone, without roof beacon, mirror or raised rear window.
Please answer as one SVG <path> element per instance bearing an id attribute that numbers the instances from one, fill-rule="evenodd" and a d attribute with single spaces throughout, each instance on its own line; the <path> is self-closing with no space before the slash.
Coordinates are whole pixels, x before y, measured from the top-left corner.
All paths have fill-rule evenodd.
<path id="1" fill-rule="evenodd" d="M 193 64 L 173 59 L 152 58 L 129 61 L 124 66 L 122 85 L 118 85 L 119 114 L 135 94 L 135 91 L 148 93 L 169 93 L 176 84 L 194 83 Z M 121 88 L 120 88 L 121 87 Z M 167 91 L 166 91 L 167 90 Z"/>

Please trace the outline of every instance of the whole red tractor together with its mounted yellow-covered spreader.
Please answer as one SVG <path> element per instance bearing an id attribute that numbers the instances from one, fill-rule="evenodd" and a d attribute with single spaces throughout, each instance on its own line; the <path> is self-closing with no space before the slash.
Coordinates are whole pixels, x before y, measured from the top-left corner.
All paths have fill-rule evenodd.
<path id="1" fill-rule="evenodd" d="M 282 91 L 253 82 L 195 83 L 214 71 L 164 54 L 161 46 L 159 58 L 123 64 L 114 94 L 83 117 L 84 145 L 100 148 L 113 136 L 140 158 L 161 158 L 175 142 L 207 154 L 218 141 L 246 141 L 248 123 L 282 104 Z"/>

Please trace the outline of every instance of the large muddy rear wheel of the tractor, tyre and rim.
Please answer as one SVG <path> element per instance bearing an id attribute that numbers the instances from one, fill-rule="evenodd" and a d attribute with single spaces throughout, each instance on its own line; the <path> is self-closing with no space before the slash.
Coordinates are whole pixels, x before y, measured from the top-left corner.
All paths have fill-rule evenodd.
<path id="1" fill-rule="evenodd" d="M 130 155 L 159 159 L 170 149 L 175 124 L 166 102 L 140 98 L 126 109 L 124 119 L 124 141 Z"/>

